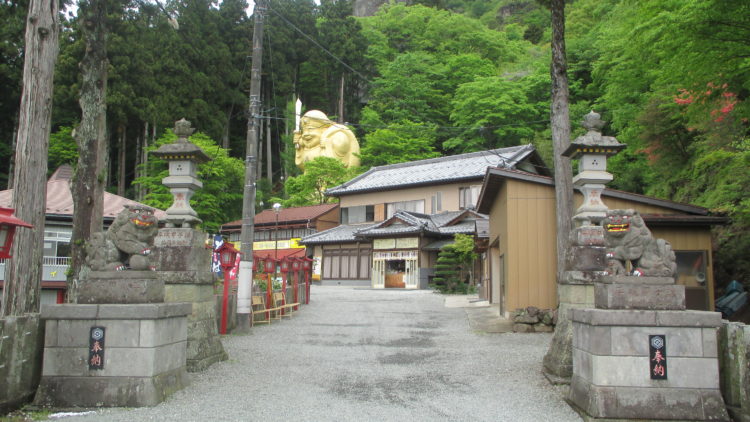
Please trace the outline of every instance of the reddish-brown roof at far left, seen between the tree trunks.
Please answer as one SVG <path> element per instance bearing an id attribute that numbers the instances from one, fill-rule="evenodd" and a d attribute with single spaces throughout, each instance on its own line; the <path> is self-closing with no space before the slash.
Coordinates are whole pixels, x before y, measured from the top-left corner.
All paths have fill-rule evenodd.
<path id="1" fill-rule="evenodd" d="M 47 215 L 73 217 L 73 194 L 70 192 L 70 179 L 72 176 L 73 169 L 68 165 L 63 165 L 47 181 Z M 12 202 L 13 189 L 0 191 L 0 207 L 10 207 Z M 125 205 L 146 206 L 131 199 L 104 192 L 105 218 L 114 218 L 125 208 Z M 154 208 L 154 215 L 159 219 L 166 217 L 164 211 L 156 208 Z"/>

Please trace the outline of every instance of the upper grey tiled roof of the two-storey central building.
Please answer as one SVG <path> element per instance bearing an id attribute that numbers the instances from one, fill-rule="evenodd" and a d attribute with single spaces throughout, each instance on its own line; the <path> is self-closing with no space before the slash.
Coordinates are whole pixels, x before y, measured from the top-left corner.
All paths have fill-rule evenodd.
<path id="1" fill-rule="evenodd" d="M 326 195 L 342 196 L 410 186 L 480 180 L 488 167 L 515 168 L 534 152 L 534 146 L 529 144 L 373 167 L 342 185 L 328 189 Z"/>

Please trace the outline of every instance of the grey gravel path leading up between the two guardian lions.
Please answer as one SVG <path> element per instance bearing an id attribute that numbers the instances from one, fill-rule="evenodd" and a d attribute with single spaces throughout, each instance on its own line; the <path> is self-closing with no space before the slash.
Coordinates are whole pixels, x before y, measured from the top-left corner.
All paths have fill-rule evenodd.
<path id="1" fill-rule="evenodd" d="M 484 334 L 429 291 L 318 287 L 292 319 L 153 408 L 65 421 L 580 421 L 541 374 L 549 334 Z"/>

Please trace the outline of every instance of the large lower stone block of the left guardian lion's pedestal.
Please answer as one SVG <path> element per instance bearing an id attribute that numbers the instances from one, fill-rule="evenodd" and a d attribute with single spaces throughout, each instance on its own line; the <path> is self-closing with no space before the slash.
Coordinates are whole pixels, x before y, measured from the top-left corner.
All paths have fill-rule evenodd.
<path id="1" fill-rule="evenodd" d="M 53 407 L 139 407 L 188 382 L 189 303 L 47 305 L 42 380 L 35 402 Z M 103 366 L 89 366 L 92 328 L 102 327 Z"/>

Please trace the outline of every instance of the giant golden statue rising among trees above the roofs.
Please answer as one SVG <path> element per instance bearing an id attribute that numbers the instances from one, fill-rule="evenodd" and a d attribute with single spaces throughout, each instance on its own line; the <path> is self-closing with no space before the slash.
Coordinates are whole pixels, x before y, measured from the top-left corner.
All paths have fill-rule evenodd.
<path id="1" fill-rule="evenodd" d="M 328 119 L 322 111 L 310 110 L 294 131 L 294 163 L 305 171 L 305 163 L 316 157 L 331 157 L 344 167 L 359 166 L 359 143 L 348 127 Z"/>

